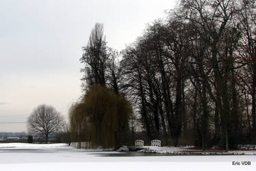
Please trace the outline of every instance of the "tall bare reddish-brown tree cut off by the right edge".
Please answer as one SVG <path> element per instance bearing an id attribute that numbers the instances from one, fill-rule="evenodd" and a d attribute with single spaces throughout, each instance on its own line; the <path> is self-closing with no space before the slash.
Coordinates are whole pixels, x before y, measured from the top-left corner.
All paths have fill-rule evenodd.
<path id="1" fill-rule="evenodd" d="M 244 65 L 244 75 L 241 79 L 251 96 L 251 120 L 253 124 L 252 137 L 256 142 L 256 2 L 242 1 L 242 10 L 238 15 L 238 29 L 242 33 L 240 55 Z M 249 123 L 250 124 L 250 123 Z"/>

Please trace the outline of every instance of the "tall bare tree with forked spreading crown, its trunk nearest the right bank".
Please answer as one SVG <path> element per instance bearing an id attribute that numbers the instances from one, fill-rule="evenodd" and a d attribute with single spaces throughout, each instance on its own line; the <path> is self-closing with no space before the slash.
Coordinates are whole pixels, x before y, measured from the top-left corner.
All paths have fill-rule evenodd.
<path id="1" fill-rule="evenodd" d="M 223 55 L 221 55 L 222 38 L 225 36 L 227 27 L 232 27 L 233 16 L 238 13 L 238 1 L 236 0 L 194 0 L 181 1 L 181 9 L 178 15 L 185 22 L 190 22 L 200 32 L 203 42 L 207 45 L 209 53 L 210 66 L 213 70 L 213 86 L 215 88 L 216 108 L 220 114 L 222 126 L 222 140 L 225 142 L 226 150 L 229 150 L 229 117 L 231 107 L 229 103 L 229 92 L 227 86 L 229 78 L 225 75 L 225 64 L 227 64 Z"/>

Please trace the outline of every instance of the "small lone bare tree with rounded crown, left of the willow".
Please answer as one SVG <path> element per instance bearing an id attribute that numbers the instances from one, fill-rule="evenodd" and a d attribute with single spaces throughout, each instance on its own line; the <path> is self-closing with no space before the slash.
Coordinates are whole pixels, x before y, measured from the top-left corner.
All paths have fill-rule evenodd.
<path id="1" fill-rule="evenodd" d="M 63 116 L 49 105 L 38 105 L 27 119 L 28 131 L 44 135 L 46 143 L 49 133 L 60 131 L 63 126 Z"/>

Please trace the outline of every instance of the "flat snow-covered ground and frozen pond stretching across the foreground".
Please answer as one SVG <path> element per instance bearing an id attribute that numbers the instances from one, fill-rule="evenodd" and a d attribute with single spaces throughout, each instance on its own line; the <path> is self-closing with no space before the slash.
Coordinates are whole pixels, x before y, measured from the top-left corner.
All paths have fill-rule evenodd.
<path id="1" fill-rule="evenodd" d="M 0 144 L 0 170 L 256 170 L 256 155 L 130 157 L 123 154 L 77 150 L 66 144 Z M 242 165 L 242 161 L 251 164 Z"/>

